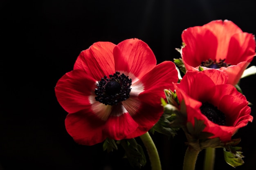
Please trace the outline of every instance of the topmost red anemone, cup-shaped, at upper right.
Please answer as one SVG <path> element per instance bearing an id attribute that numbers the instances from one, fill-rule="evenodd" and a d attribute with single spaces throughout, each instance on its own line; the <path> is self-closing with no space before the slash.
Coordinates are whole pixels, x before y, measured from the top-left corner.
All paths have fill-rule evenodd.
<path id="1" fill-rule="evenodd" d="M 182 33 L 182 60 L 188 71 L 219 69 L 236 85 L 255 56 L 255 38 L 229 20 L 215 20 Z"/>

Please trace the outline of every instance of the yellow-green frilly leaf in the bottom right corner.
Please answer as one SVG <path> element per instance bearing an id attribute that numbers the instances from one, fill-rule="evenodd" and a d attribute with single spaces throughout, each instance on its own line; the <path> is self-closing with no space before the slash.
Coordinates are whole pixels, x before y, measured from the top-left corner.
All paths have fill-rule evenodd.
<path id="1" fill-rule="evenodd" d="M 243 165 L 245 162 L 243 161 L 243 152 L 241 147 L 233 147 L 229 146 L 229 151 L 226 148 L 223 148 L 224 159 L 225 161 L 232 167 L 237 167 Z"/>

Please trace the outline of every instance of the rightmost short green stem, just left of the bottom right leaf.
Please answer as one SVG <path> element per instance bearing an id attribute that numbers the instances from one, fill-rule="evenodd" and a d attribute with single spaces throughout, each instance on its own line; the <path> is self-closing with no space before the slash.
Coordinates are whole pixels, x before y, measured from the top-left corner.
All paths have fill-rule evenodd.
<path id="1" fill-rule="evenodd" d="M 213 170 L 215 159 L 215 148 L 206 148 L 204 156 L 204 170 Z"/>

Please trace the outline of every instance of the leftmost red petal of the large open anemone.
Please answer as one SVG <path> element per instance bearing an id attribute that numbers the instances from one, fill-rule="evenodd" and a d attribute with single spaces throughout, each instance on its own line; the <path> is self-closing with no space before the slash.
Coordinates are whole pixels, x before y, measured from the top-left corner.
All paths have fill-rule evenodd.
<path id="1" fill-rule="evenodd" d="M 96 81 L 82 70 L 66 73 L 58 80 L 55 94 L 68 113 L 90 108 L 89 96 L 94 93 Z"/>

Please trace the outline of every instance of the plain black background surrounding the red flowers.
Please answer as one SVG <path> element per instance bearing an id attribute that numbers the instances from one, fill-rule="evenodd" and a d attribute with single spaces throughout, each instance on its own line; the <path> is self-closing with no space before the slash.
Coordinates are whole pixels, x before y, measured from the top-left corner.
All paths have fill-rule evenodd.
<path id="1" fill-rule="evenodd" d="M 102 144 L 81 146 L 65 130 L 67 113 L 56 101 L 54 86 L 72 70 L 76 57 L 94 42 L 115 44 L 139 38 L 157 62 L 180 57 L 181 33 L 212 20 L 231 20 L 256 33 L 254 0 L 49 0 L 0 1 L 0 169 L 131 170 L 123 150 L 107 153 Z M 256 65 L 254 59 L 251 65 Z M 255 75 L 242 79 L 247 99 L 256 104 Z M 256 116 L 256 107 L 252 106 Z M 174 139 L 155 133 L 163 170 L 180 170 L 186 146 L 182 131 Z M 256 167 L 256 124 L 241 137 L 245 164 Z M 140 139 L 137 139 L 141 144 Z M 233 170 L 216 150 L 216 169 Z M 202 169 L 200 152 L 196 169 Z M 144 170 L 150 170 L 148 161 Z"/>

